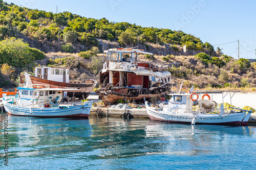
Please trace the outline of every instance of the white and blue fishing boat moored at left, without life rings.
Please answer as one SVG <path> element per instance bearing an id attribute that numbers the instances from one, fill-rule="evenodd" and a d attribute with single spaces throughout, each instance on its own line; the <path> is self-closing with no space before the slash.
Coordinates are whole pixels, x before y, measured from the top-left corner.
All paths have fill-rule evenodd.
<path id="1" fill-rule="evenodd" d="M 39 117 L 88 117 L 92 103 L 74 100 L 63 103 L 62 91 L 74 89 L 47 88 L 46 85 L 20 85 L 17 94 L 9 97 L 4 94 L 3 104 L 8 114 Z"/>

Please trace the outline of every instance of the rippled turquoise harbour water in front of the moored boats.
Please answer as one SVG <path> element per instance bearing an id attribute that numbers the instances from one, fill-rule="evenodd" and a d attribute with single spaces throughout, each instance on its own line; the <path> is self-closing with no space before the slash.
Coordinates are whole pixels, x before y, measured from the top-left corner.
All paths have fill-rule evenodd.
<path id="1" fill-rule="evenodd" d="M 4 116 L 1 114 L 1 141 Z M 256 169 L 256 127 L 8 116 L 0 169 Z"/>

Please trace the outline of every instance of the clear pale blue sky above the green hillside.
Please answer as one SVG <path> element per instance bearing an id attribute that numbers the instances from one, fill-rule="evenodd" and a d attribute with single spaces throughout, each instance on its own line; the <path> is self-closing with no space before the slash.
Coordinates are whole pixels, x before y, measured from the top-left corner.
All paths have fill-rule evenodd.
<path id="1" fill-rule="evenodd" d="M 181 30 L 223 48 L 238 59 L 256 58 L 256 1 L 238 0 L 15 0 L 18 6 L 54 13 L 68 11 L 88 18 Z M 239 40 L 239 45 L 238 45 Z"/>

